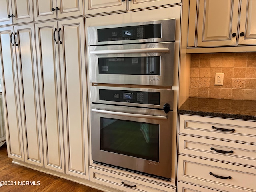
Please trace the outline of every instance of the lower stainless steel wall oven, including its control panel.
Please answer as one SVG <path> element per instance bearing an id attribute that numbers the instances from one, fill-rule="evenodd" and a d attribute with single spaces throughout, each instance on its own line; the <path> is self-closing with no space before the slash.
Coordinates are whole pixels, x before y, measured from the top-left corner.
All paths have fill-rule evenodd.
<path id="1" fill-rule="evenodd" d="M 90 86 L 94 163 L 170 180 L 172 90 Z"/>

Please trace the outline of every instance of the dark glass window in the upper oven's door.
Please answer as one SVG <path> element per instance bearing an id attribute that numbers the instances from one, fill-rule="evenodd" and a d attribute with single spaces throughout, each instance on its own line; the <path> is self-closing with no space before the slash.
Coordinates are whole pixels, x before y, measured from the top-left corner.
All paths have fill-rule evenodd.
<path id="1" fill-rule="evenodd" d="M 160 75 L 160 56 L 98 58 L 99 74 Z"/>

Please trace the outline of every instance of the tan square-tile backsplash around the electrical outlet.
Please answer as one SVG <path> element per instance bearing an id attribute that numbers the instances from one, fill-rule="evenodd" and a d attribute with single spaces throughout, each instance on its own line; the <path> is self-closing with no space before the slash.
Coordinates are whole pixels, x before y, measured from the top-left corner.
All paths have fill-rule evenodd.
<path id="1" fill-rule="evenodd" d="M 215 73 L 224 73 L 222 86 Z M 256 100 L 256 52 L 192 54 L 189 95 Z"/>

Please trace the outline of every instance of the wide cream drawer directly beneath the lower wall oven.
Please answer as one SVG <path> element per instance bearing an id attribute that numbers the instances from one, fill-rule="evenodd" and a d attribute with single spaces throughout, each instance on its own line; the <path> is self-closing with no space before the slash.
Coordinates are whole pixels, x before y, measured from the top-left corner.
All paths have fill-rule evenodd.
<path id="1" fill-rule="evenodd" d="M 90 168 L 90 181 L 126 192 L 175 192 L 175 189 L 162 184 L 132 178 L 122 174 Z M 124 186 L 124 184 L 134 187 Z"/>

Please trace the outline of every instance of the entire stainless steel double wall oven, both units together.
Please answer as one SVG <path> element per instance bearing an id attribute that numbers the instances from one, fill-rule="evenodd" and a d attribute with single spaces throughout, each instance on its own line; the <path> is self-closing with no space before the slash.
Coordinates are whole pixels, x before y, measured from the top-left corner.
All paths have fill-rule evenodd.
<path id="1" fill-rule="evenodd" d="M 170 180 L 175 19 L 87 33 L 93 162 Z"/>

